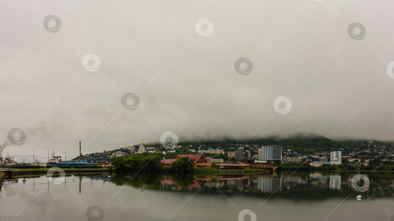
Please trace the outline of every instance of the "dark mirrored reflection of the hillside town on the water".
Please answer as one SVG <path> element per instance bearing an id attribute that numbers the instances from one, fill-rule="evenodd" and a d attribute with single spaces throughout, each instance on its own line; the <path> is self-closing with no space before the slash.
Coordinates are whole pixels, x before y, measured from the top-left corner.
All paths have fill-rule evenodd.
<path id="1" fill-rule="evenodd" d="M 84 191 L 84 180 L 92 182 L 114 183 L 116 186 L 130 186 L 138 188 L 141 193 L 145 189 L 163 191 L 200 190 L 201 192 L 217 193 L 227 191 L 226 194 L 273 194 L 279 197 L 294 199 L 322 199 L 340 197 L 357 192 L 351 186 L 351 179 L 356 173 L 346 172 L 281 172 L 273 174 L 214 174 L 214 175 L 183 175 L 169 176 L 162 174 L 75 174 L 66 175 L 67 179 L 77 181 L 79 193 Z M 394 197 L 394 174 L 391 172 L 364 173 L 371 181 L 366 196 Z M 42 175 L 41 175 L 42 176 Z M 39 177 L 39 176 L 37 176 Z M 42 176 L 45 177 L 45 176 Z M 35 188 L 36 177 L 24 177 L 23 185 L 32 181 L 31 191 Z M 18 184 L 17 179 L 6 179 L 4 186 Z M 30 185 L 29 185 L 30 186 Z M 53 186 L 48 182 L 48 193 Z M 361 194 L 361 193 L 360 193 Z"/>

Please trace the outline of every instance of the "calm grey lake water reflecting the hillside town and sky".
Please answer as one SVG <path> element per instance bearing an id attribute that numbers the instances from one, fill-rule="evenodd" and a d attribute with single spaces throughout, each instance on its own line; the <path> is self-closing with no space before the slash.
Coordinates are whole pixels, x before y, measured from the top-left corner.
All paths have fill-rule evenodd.
<path id="1" fill-rule="evenodd" d="M 4 182 L 0 220 L 393 221 L 394 173 L 361 172 L 365 192 L 356 174 L 27 176 Z"/>

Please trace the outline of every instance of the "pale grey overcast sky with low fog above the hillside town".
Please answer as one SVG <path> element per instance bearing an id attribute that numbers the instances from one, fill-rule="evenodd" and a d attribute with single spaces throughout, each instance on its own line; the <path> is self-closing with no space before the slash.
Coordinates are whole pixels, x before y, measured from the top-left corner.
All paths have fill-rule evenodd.
<path id="1" fill-rule="evenodd" d="M 86 154 L 165 131 L 394 140 L 394 2 L 0 4 L 0 142 L 19 162 L 29 149 L 71 159 L 80 140 Z"/>

